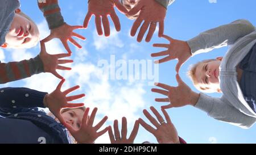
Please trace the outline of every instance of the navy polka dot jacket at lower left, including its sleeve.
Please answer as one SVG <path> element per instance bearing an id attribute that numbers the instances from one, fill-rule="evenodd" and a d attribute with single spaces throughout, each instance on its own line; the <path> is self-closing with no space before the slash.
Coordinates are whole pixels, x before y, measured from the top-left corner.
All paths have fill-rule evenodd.
<path id="1" fill-rule="evenodd" d="M 45 108 L 46 94 L 24 87 L 0 89 L 0 143 L 69 143 L 67 129 L 38 109 Z"/>

